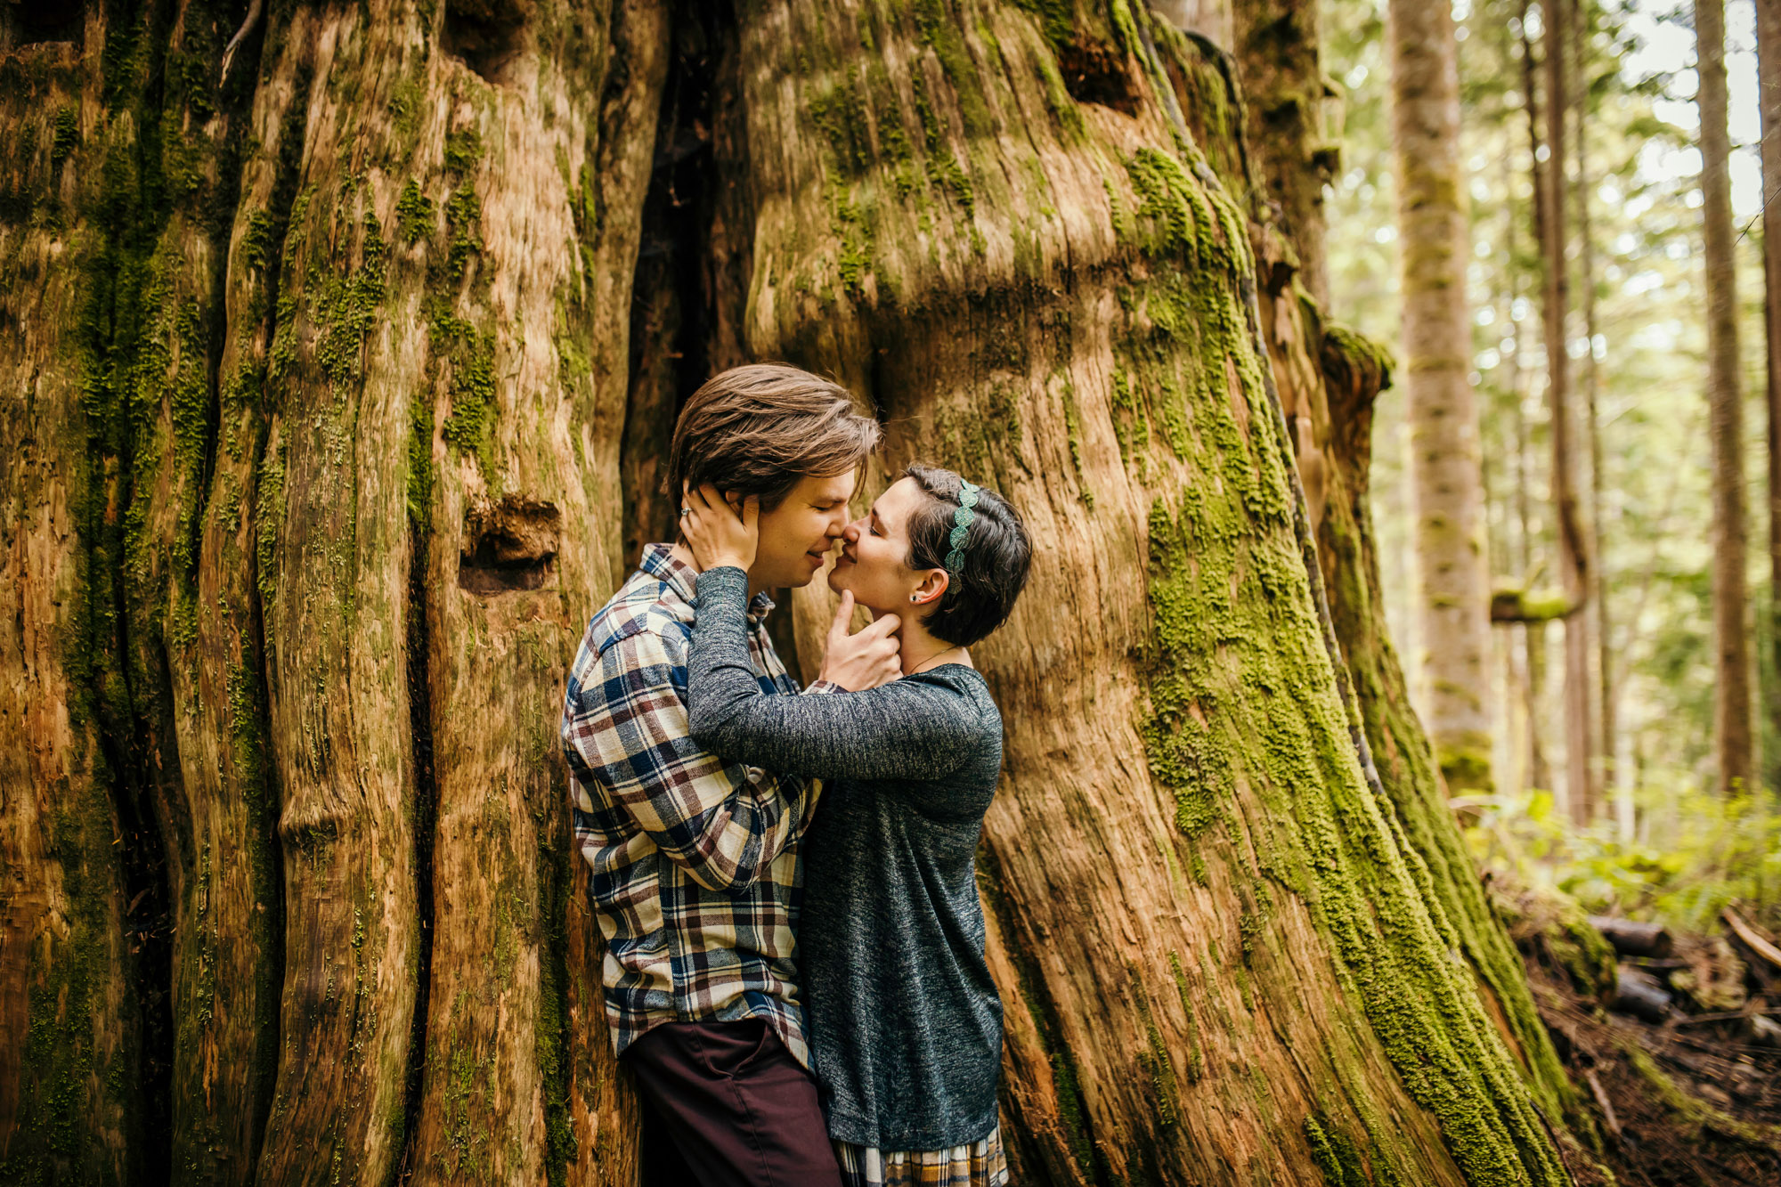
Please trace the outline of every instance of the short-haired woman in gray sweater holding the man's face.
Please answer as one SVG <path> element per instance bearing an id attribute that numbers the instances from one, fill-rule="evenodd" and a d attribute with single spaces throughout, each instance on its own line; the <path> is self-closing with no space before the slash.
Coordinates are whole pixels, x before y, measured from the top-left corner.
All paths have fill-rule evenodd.
<path id="1" fill-rule="evenodd" d="M 898 631 L 901 672 L 785 697 L 748 659 L 757 513 L 687 492 L 680 526 L 702 569 L 687 715 L 714 754 L 825 781 L 803 843 L 798 962 L 842 1176 L 997 1187 L 1001 998 L 974 852 L 1001 772 L 1001 715 L 965 649 L 1013 610 L 1026 529 L 996 492 L 908 467 L 848 526 L 828 579 L 835 629 L 866 606 L 867 629 Z"/>

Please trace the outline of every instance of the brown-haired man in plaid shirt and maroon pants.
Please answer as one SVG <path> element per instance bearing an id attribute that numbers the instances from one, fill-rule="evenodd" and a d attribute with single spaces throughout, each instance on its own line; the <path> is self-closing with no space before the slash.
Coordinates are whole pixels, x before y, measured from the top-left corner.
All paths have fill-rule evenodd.
<path id="1" fill-rule="evenodd" d="M 821 572 L 878 435 L 846 389 L 775 364 L 712 378 L 680 413 L 666 488 L 760 497 L 748 581 L 764 690 L 798 692 L 768 638 L 764 590 Z M 841 1173 L 794 964 L 798 839 L 819 788 L 687 736 L 696 576 L 684 544 L 645 547 L 588 624 L 568 677 L 563 750 L 606 936 L 606 1016 L 645 1100 L 647 1182 L 832 1185 Z M 837 622 L 809 692 L 894 679 L 894 629 L 889 617 L 858 634 Z"/>

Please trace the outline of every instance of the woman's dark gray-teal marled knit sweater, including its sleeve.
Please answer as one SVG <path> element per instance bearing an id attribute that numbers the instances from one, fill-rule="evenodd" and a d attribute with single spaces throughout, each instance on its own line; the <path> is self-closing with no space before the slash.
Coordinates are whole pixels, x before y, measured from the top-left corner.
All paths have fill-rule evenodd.
<path id="1" fill-rule="evenodd" d="M 741 569 L 700 574 L 687 715 L 714 754 L 825 781 L 798 964 L 828 1132 L 880 1150 L 974 1142 L 996 1126 L 1001 1068 L 972 859 L 1001 713 L 956 663 L 857 693 L 766 693 L 746 601 Z"/>

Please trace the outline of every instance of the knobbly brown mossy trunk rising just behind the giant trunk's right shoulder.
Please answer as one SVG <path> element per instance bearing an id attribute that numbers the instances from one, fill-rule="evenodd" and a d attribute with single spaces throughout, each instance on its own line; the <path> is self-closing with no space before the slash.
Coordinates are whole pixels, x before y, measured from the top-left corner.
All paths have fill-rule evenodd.
<path id="1" fill-rule="evenodd" d="M 1341 159 L 1325 123 L 1329 84 L 1320 66 L 1318 5 L 1307 0 L 1236 0 L 1236 59 L 1243 73 L 1250 144 L 1259 153 L 1268 200 L 1293 244 L 1298 283 L 1329 308 L 1323 250 L 1323 187 Z"/>

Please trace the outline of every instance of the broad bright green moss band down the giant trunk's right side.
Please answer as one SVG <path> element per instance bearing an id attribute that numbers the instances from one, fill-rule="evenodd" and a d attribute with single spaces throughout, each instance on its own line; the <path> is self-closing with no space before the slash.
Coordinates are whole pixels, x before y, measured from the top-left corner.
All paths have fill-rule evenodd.
<path id="1" fill-rule="evenodd" d="M 1179 283 L 1140 287 L 1117 349 L 1143 405 L 1167 408 L 1172 385 L 1184 399 L 1184 424 L 1165 421 L 1165 433 L 1190 469 L 1179 495 L 1151 508 L 1152 777 L 1188 836 L 1229 813 L 1238 782 L 1270 818 L 1295 822 L 1291 836 L 1259 829 L 1263 873 L 1320 920 L 1345 993 L 1468 1182 L 1564 1182 L 1329 692 L 1336 674 L 1293 545 L 1297 495 L 1241 303 L 1254 269 L 1241 217 L 1167 153 L 1134 155 L 1127 175 L 1138 248 L 1152 276 Z M 1232 713 L 1256 733 L 1232 731 Z"/>

